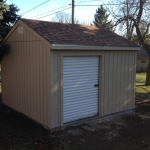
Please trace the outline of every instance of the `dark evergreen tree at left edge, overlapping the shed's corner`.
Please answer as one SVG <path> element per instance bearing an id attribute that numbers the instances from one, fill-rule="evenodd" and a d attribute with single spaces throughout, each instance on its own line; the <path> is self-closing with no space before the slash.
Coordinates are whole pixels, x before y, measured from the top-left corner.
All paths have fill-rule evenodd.
<path id="1" fill-rule="evenodd" d="M 17 15 L 18 7 L 14 4 L 7 5 L 6 1 L 0 0 L 0 42 L 11 29 L 12 25 L 20 18 Z M 0 43 L 0 61 L 9 51 L 9 45 Z"/>

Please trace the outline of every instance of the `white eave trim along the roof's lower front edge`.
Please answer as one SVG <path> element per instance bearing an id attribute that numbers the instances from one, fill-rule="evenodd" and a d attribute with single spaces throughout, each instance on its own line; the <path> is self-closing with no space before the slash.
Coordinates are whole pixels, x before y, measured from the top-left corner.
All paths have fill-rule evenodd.
<path id="1" fill-rule="evenodd" d="M 52 50 L 140 50 L 141 47 L 52 44 Z"/>

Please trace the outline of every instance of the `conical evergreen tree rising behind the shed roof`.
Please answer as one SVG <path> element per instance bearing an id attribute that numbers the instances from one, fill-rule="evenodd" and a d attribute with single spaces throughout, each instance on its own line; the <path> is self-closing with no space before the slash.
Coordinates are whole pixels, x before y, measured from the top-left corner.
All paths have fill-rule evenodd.
<path id="1" fill-rule="evenodd" d="M 112 21 L 108 21 L 108 17 L 109 17 L 109 14 L 107 14 L 106 9 L 104 9 L 103 5 L 101 5 L 96 10 L 93 23 L 97 27 L 112 29 L 113 24 L 112 24 Z"/>

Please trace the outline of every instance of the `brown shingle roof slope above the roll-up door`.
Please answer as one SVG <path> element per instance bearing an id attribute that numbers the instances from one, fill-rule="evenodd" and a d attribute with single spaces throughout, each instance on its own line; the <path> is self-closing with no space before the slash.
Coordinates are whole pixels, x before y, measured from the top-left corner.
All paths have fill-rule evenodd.
<path id="1" fill-rule="evenodd" d="M 21 20 L 51 44 L 137 47 L 134 42 L 110 30 L 92 25 L 72 25 L 30 19 Z"/>

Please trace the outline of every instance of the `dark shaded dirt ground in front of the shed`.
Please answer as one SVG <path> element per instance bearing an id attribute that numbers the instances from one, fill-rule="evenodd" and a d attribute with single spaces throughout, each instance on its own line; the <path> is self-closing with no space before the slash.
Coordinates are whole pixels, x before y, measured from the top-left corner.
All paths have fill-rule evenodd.
<path id="1" fill-rule="evenodd" d="M 126 115 L 51 133 L 4 105 L 0 106 L 0 150 L 143 150 L 150 149 L 150 103 Z M 73 133 L 73 134 L 72 134 Z"/>

